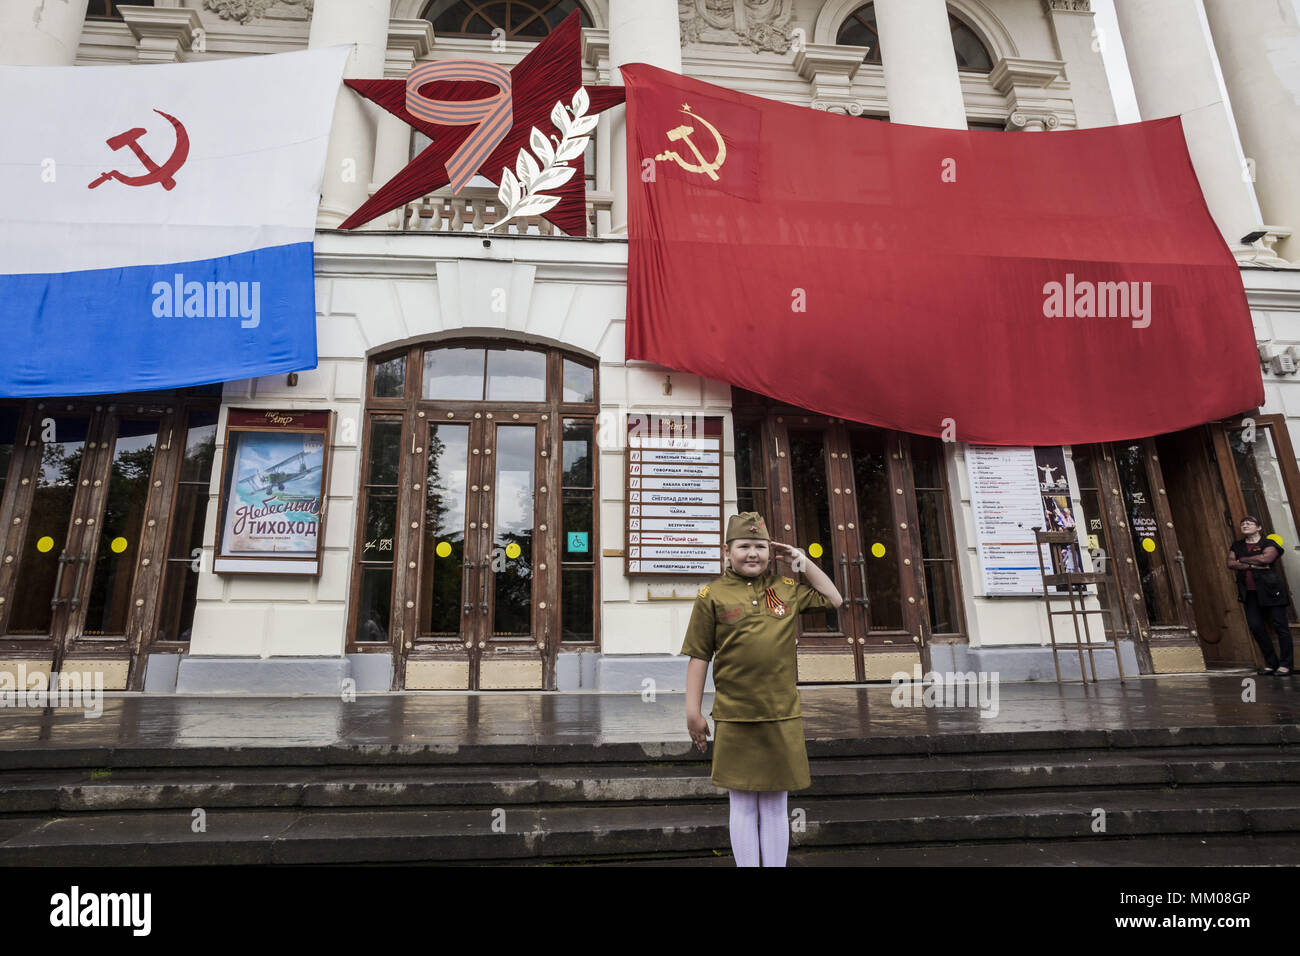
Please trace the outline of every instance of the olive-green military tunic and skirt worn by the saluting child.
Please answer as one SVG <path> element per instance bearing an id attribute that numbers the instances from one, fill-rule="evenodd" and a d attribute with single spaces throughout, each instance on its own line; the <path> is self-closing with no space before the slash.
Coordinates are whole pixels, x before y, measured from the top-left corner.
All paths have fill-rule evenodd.
<path id="1" fill-rule="evenodd" d="M 746 578 L 727 568 L 699 589 L 681 653 L 714 662 L 715 786 L 811 786 L 794 684 L 794 617 L 816 610 L 832 610 L 816 588 L 770 571 Z"/>

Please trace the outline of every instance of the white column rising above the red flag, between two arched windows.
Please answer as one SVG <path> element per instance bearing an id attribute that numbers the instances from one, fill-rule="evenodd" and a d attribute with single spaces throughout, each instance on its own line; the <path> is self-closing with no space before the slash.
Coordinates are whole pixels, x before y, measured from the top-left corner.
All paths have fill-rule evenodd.
<path id="1" fill-rule="evenodd" d="M 966 129 L 944 0 L 876 0 L 889 122 Z"/>

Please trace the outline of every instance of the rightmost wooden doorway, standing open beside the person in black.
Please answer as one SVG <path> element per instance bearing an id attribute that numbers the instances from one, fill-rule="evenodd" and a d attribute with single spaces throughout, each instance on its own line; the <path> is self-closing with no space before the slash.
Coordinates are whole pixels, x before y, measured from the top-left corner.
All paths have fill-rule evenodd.
<path id="1" fill-rule="evenodd" d="M 1105 555 L 1118 584 L 1109 627 L 1132 637 L 1140 670 L 1195 670 L 1201 659 L 1208 667 L 1261 663 L 1225 559 L 1244 514 L 1265 523 L 1283 555 L 1300 545 L 1300 477 L 1283 418 L 1072 451 L 1087 544 L 1095 557 Z M 1286 564 L 1295 631 L 1300 567 L 1288 572 Z"/>

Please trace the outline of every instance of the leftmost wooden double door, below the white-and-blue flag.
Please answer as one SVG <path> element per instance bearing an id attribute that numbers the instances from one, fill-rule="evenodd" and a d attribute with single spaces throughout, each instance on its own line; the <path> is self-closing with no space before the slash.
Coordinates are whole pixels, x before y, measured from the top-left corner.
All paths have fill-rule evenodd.
<path id="1" fill-rule="evenodd" d="M 216 429 L 216 401 L 131 398 L 0 407 L 0 657 L 107 689 L 140 687 L 142 648 L 186 646 Z"/>

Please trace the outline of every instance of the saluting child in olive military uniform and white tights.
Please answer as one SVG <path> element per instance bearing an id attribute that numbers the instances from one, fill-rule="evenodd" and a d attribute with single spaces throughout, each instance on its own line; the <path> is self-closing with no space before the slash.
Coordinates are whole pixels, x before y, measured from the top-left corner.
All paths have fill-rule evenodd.
<path id="1" fill-rule="evenodd" d="M 809 584 L 775 572 L 772 551 Z M 794 617 L 840 607 L 835 583 L 797 548 L 772 541 L 757 511 L 727 523 L 722 578 L 699 589 L 681 653 L 686 666 L 686 728 L 701 750 L 705 674 L 714 662 L 712 782 L 731 793 L 731 843 L 737 866 L 784 866 L 790 844 L 785 799 L 809 777 L 803 717 L 794 685 Z M 770 566 L 772 570 L 770 570 Z"/>

